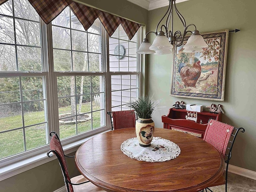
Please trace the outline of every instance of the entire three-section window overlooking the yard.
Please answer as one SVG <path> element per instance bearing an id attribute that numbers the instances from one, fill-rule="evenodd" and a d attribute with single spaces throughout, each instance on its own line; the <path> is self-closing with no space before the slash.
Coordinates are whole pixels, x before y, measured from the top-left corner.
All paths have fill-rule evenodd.
<path id="1" fill-rule="evenodd" d="M 47 151 L 51 131 L 71 143 L 108 129 L 106 111 L 139 95 L 137 39 L 98 19 L 86 31 L 69 7 L 46 26 L 27 0 L 2 4 L 0 162 Z"/>

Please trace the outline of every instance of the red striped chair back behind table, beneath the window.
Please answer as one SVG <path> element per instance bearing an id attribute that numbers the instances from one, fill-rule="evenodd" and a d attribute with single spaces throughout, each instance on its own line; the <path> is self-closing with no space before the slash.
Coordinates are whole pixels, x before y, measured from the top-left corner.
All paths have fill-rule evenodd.
<path id="1" fill-rule="evenodd" d="M 108 114 L 111 119 L 111 130 L 135 127 L 136 119 L 134 110 L 108 111 Z"/>

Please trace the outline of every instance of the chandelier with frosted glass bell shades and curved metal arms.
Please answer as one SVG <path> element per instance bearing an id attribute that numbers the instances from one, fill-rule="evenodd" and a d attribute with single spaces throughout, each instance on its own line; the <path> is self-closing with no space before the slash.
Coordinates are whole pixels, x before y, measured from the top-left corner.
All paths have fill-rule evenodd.
<path id="1" fill-rule="evenodd" d="M 156 26 L 156 31 L 150 31 L 146 34 L 146 38 L 142 41 L 138 51 L 136 53 L 138 54 L 170 54 L 172 52 L 173 46 L 181 46 L 184 42 L 184 37 L 186 34 L 192 33 L 192 35 L 188 38 L 187 43 L 183 46 L 183 52 L 193 53 L 193 52 L 202 52 L 202 48 L 208 47 L 208 45 L 205 43 L 204 38 L 199 34 L 199 31 L 196 30 L 196 26 L 194 24 L 186 25 L 186 21 L 182 14 L 178 11 L 176 7 L 176 0 L 169 0 L 169 7 L 166 12 L 166 14 L 163 16 L 163 18 L 160 20 L 158 25 Z M 183 35 L 178 30 L 174 32 L 173 30 L 173 14 L 174 11 L 180 18 L 180 21 L 182 22 L 184 26 Z M 168 15 L 167 15 L 168 14 Z M 160 27 L 160 31 L 158 31 L 158 28 L 160 26 L 160 23 L 162 20 L 166 18 L 165 25 L 163 24 Z M 169 24 L 171 22 L 171 30 L 169 29 Z M 190 26 L 194 26 L 194 31 L 188 30 Z M 154 39 L 152 45 L 148 41 L 147 35 L 150 33 L 154 33 L 156 35 L 156 38 Z"/>

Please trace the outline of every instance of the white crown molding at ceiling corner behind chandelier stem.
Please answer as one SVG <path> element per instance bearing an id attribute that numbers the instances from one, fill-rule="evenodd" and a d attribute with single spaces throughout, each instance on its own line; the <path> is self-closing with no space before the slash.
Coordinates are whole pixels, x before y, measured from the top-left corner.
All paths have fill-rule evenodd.
<path id="1" fill-rule="evenodd" d="M 168 0 L 127 0 L 133 4 L 136 4 L 146 10 L 154 10 L 169 5 Z M 176 3 L 181 3 L 189 0 L 176 0 Z"/>

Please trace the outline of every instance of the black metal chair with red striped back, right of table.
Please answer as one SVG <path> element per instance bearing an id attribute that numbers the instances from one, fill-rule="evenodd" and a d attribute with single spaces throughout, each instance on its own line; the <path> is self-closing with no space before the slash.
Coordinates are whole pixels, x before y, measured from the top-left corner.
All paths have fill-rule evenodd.
<path id="1" fill-rule="evenodd" d="M 226 165 L 226 174 L 222 176 L 218 181 L 212 184 L 212 186 L 218 186 L 225 184 L 225 192 L 227 192 L 227 182 L 228 182 L 228 164 L 231 158 L 231 150 L 236 139 L 238 132 L 245 132 L 244 128 L 235 128 L 234 126 L 219 122 L 214 119 L 210 119 L 204 134 L 204 140 L 212 146 L 214 146 L 220 154 L 222 154 Z M 206 192 L 211 189 L 204 189 Z M 202 192 L 204 192 L 202 190 Z"/>

